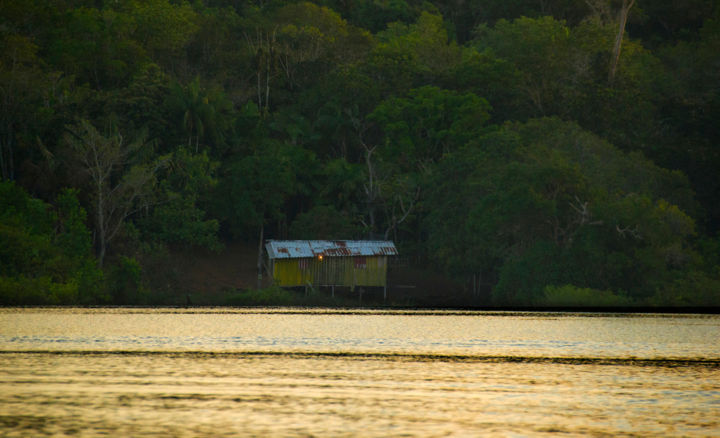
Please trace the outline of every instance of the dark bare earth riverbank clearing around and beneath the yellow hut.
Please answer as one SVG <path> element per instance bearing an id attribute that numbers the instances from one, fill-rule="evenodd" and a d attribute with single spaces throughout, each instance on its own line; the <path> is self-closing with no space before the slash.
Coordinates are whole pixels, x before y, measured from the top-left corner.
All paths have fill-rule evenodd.
<path id="1" fill-rule="evenodd" d="M 163 277 L 165 304 L 171 305 L 288 305 L 288 306 L 389 306 L 463 307 L 485 304 L 482 297 L 467 296 L 441 274 L 411 266 L 391 264 L 387 297 L 380 288 L 328 288 L 283 290 L 272 287 L 265 273 L 257 290 L 257 243 L 231 242 L 221 251 L 180 250 L 168 254 Z M 361 297 L 362 291 L 362 297 Z M 471 301 L 468 301 L 471 300 Z"/>

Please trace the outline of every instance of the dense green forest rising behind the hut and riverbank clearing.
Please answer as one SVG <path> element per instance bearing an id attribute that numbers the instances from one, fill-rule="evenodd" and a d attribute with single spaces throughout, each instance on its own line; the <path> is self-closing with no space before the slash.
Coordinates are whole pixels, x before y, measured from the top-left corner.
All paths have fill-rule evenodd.
<path id="1" fill-rule="evenodd" d="M 2 0 L 0 304 L 298 238 L 468 305 L 720 306 L 718 120 L 716 0 Z"/>

